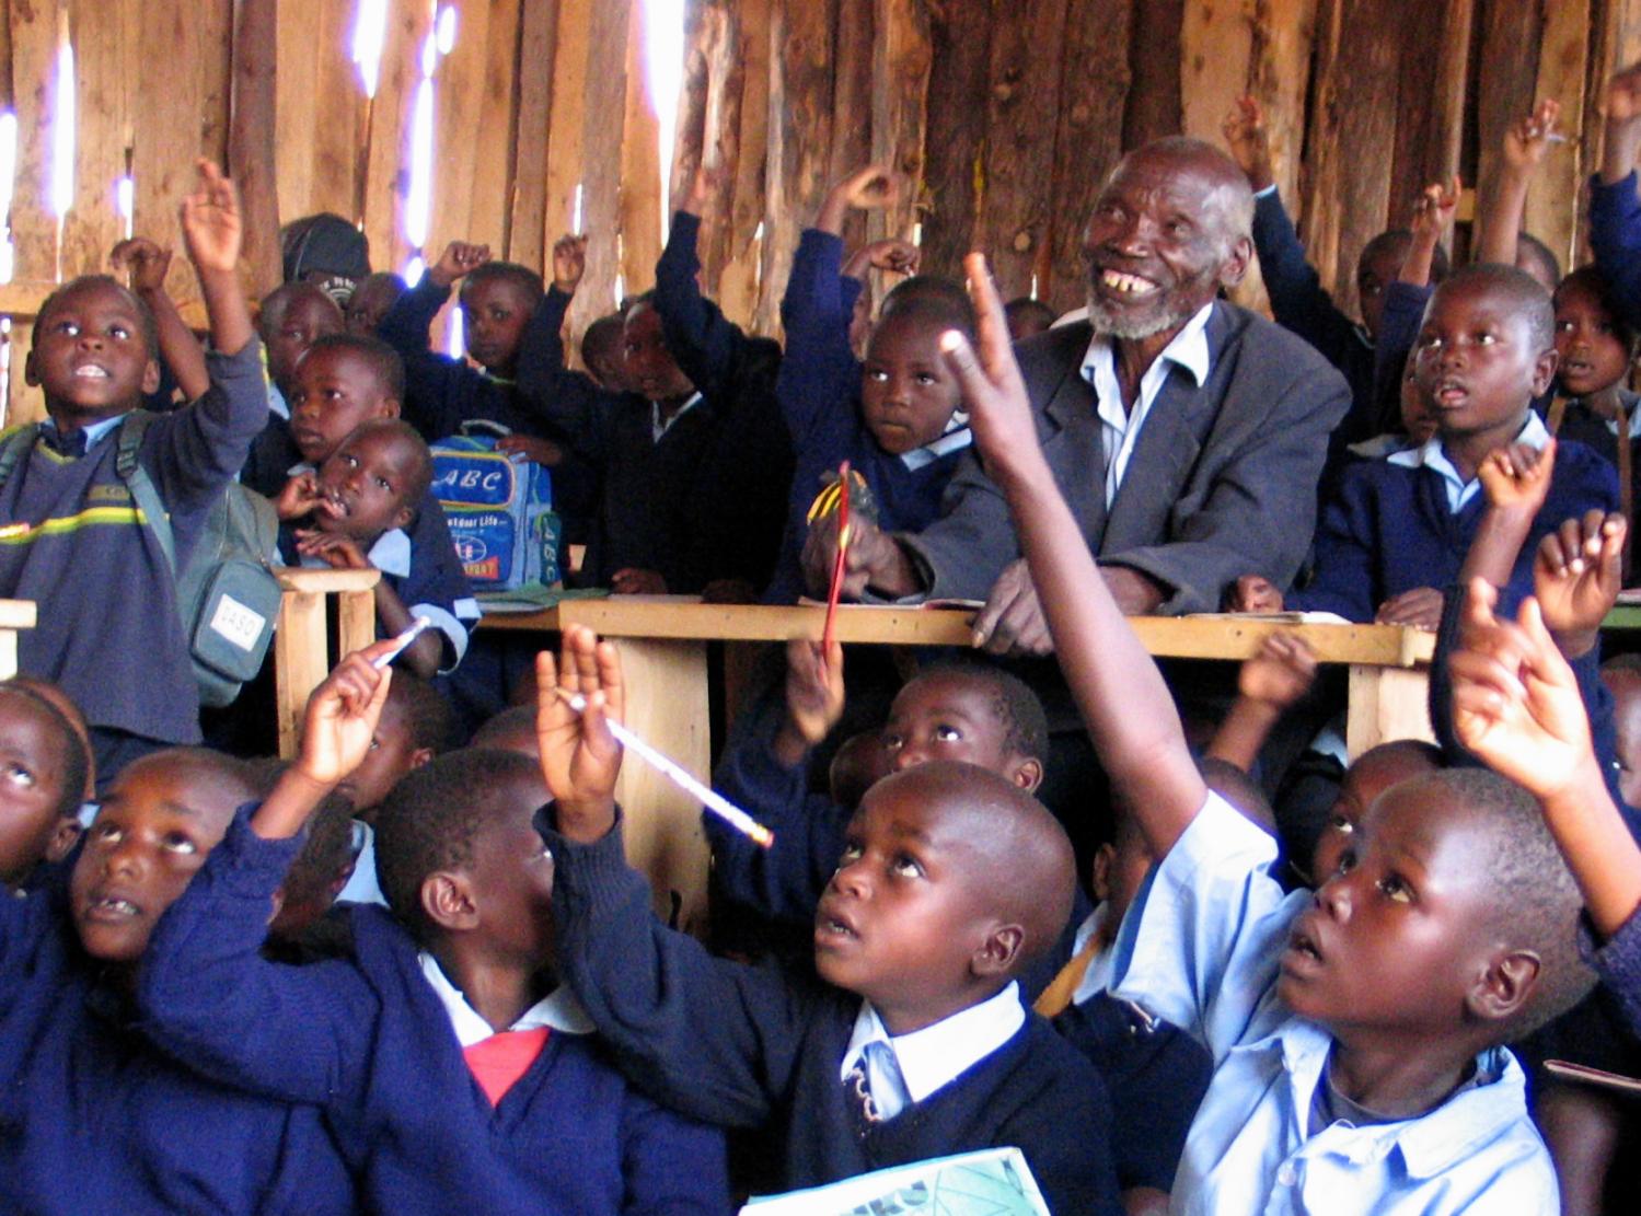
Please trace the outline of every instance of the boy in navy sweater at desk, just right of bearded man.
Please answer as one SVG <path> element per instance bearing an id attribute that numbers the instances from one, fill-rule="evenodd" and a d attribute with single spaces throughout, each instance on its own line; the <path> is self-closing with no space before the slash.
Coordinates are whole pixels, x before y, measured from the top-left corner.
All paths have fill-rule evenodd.
<path id="1" fill-rule="evenodd" d="M 1531 410 L 1556 371 L 1549 297 L 1511 266 L 1469 266 L 1431 297 L 1415 350 L 1436 435 L 1382 461 L 1347 468 L 1316 530 L 1316 578 L 1288 604 L 1347 620 L 1436 629 L 1441 587 L 1470 550 L 1487 496 L 1479 473 L 1510 445 L 1551 443 Z M 1526 594 L 1538 542 L 1564 519 L 1618 507 L 1618 478 L 1579 443 L 1554 446 L 1554 471 L 1511 599 Z"/>

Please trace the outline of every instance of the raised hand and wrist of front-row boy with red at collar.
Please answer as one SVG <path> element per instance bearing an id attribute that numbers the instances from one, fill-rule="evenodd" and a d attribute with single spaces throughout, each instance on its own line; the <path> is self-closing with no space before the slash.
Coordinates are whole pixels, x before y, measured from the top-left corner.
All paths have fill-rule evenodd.
<path id="1" fill-rule="evenodd" d="M 377 642 L 348 655 L 313 689 L 302 720 L 302 752 L 251 816 L 251 830 L 259 837 L 282 840 L 300 832 L 336 783 L 364 760 L 392 679 L 392 671 L 377 671 L 371 663 L 392 645 Z"/>

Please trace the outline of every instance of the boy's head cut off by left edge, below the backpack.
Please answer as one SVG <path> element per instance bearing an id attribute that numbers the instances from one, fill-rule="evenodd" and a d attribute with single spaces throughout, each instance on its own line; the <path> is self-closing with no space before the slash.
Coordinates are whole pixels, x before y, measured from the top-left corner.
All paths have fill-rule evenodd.
<path id="1" fill-rule="evenodd" d="M 0 899 L 80 839 L 90 748 L 51 701 L 0 684 Z"/>

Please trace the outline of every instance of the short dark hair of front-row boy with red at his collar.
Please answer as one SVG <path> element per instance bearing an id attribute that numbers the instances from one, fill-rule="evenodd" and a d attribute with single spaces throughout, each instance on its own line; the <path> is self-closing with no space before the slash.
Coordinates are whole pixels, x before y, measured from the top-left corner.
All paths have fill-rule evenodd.
<path id="1" fill-rule="evenodd" d="M 405 773 L 376 814 L 376 881 L 387 906 L 425 942 L 435 926 L 422 911 L 422 883 L 440 870 L 473 865 L 473 843 L 512 781 L 540 781 L 517 752 L 463 748 Z"/>

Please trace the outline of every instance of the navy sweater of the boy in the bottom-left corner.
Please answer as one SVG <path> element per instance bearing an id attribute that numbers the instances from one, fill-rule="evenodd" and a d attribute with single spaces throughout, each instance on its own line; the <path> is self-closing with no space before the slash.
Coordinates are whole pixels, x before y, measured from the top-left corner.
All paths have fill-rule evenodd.
<path id="1" fill-rule="evenodd" d="M 354 1211 L 317 1108 L 218 1086 L 143 1037 L 80 952 L 66 881 L 0 894 L 0 1211 Z"/>

